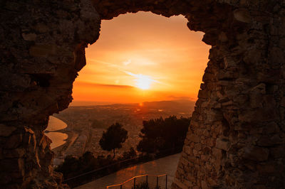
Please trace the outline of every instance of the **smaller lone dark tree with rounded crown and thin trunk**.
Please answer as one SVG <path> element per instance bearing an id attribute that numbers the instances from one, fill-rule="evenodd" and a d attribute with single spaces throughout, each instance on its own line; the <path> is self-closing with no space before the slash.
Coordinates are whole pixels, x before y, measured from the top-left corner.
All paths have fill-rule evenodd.
<path id="1" fill-rule="evenodd" d="M 122 124 L 115 123 L 112 124 L 106 132 L 103 132 L 99 144 L 105 151 L 113 150 L 113 158 L 115 158 L 115 148 L 122 148 L 122 144 L 126 139 L 128 139 L 128 131 L 123 129 Z"/>

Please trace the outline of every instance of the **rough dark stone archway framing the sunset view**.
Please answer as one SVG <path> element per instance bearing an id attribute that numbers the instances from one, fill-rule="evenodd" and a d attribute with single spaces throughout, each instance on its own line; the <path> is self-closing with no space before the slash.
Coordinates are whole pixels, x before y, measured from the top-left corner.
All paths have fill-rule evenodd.
<path id="1" fill-rule="evenodd" d="M 44 0 L 0 2 L 0 184 L 63 188 L 48 116 L 71 102 L 100 19 L 185 15 L 212 45 L 172 188 L 285 188 L 285 2 Z"/>

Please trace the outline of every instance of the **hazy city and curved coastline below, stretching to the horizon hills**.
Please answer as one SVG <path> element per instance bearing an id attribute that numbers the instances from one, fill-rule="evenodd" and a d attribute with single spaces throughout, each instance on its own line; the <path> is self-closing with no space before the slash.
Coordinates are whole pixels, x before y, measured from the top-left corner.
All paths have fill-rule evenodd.
<path id="1" fill-rule="evenodd" d="M 116 151 L 120 156 L 140 141 L 142 121 L 166 118 L 190 117 L 195 102 L 188 100 L 143 102 L 139 104 L 109 104 L 96 106 L 71 106 L 50 118 L 46 135 L 53 141 L 54 165 L 63 162 L 68 155 L 82 156 L 90 151 L 94 156 L 112 156 L 112 151 L 103 151 L 99 140 L 103 131 L 116 122 L 128 131 L 128 139 Z"/>

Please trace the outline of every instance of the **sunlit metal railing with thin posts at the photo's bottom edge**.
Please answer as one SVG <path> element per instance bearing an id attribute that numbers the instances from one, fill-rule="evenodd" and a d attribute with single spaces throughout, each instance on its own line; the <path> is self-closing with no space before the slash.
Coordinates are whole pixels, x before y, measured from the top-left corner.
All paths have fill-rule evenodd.
<path id="1" fill-rule="evenodd" d="M 161 179 L 165 178 L 165 179 Z M 133 182 L 132 182 L 133 180 Z M 107 189 L 115 189 L 115 188 L 139 188 L 140 184 L 145 184 L 144 186 L 147 185 L 147 188 L 155 188 L 155 189 L 162 189 L 165 188 L 167 189 L 167 174 L 163 175 L 138 175 L 133 178 L 130 178 L 129 180 L 126 180 L 123 183 L 116 184 L 116 185 L 108 185 Z M 165 187 L 163 187 L 165 186 Z"/>

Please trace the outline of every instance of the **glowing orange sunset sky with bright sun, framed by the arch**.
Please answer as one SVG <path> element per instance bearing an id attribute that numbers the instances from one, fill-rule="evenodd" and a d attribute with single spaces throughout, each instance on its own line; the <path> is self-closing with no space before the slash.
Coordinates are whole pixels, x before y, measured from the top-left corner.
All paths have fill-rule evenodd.
<path id="1" fill-rule="evenodd" d="M 74 82 L 73 105 L 197 99 L 210 46 L 186 24 L 183 16 L 150 12 L 102 21 Z"/>

